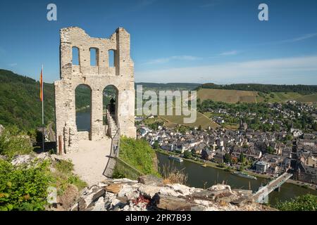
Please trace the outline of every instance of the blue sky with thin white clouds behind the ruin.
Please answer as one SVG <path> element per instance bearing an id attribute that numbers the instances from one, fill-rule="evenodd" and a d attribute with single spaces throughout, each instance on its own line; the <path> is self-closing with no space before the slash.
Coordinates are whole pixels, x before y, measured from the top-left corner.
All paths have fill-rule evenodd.
<path id="1" fill-rule="evenodd" d="M 57 6 L 57 21 L 46 6 Z M 258 6 L 268 5 L 268 21 Z M 131 34 L 136 82 L 317 84 L 316 0 L 1 1 L 0 68 L 59 79 L 59 29 Z"/>

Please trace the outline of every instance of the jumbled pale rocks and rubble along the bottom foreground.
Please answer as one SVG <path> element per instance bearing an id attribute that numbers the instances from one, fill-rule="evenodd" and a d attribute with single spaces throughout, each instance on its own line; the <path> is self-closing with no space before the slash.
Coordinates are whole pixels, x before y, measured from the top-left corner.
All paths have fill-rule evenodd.
<path id="1" fill-rule="evenodd" d="M 218 184 L 208 189 L 163 184 L 155 176 L 106 179 L 83 191 L 72 211 L 271 211 L 251 198 L 251 191 Z"/>

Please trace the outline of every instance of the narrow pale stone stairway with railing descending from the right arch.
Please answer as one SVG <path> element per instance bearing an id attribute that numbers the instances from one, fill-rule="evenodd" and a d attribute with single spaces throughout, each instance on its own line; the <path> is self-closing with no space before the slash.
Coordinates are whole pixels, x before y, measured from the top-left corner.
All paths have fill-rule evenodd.
<path id="1" fill-rule="evenodd" d="M 116 121 L 113 119 L 113 115 L 107 113 L 108 119 L 108 136 L 111 137 L 111 153 L 109 155 L 109 160 L 104 170 L 104 176 L 111 178 L 113 175 L 113 170 L 116 167 L 116 161 L 119 155 L 119 146 L 120 146 L 120 128 L 116 124 Z"/>

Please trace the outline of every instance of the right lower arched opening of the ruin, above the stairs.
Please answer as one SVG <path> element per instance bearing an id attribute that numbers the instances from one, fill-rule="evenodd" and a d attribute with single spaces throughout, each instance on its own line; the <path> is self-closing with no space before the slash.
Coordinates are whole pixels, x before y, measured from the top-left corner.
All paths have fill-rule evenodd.
<path id="1" fill-rule="evenodd" d="M 118 90 L 113 85 L 108 85 L 103 91 L 103 105 L 104 105 L 104 125 L 107 124 L 107 112 L 113 117 L 113 120 L 117 120 L 118 112 Z"/>

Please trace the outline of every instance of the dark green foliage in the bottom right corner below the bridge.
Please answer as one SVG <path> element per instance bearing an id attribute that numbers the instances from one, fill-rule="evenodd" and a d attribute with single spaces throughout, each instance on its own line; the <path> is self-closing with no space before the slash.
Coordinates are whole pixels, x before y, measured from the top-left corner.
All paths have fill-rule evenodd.
<path id="1" fill-rule="evenodd" d="M 284 203 L 276 205 L 282 211 L 317 211 L 317 195 L 302 195 Z"/>

